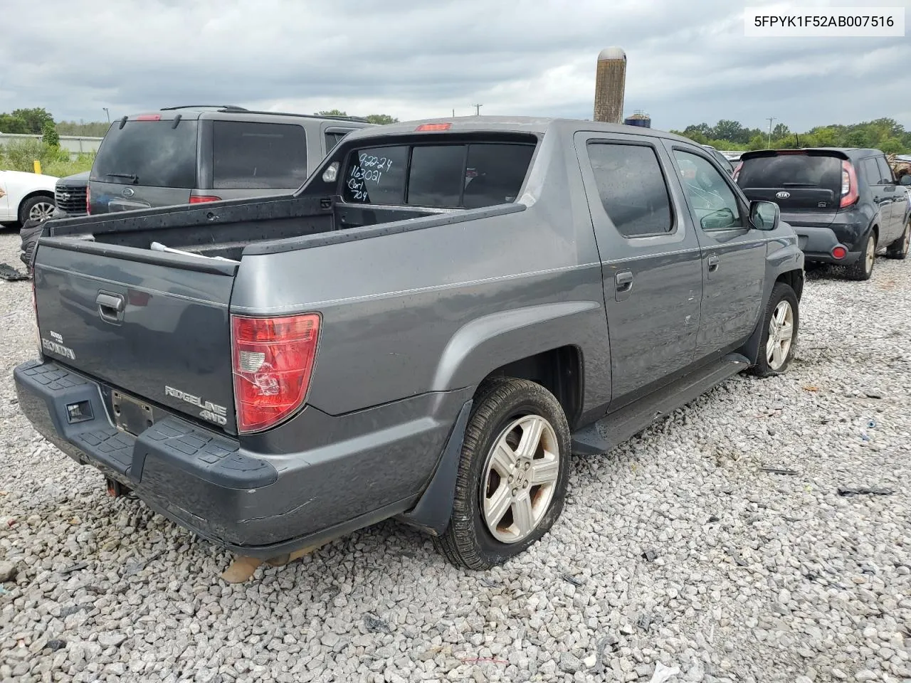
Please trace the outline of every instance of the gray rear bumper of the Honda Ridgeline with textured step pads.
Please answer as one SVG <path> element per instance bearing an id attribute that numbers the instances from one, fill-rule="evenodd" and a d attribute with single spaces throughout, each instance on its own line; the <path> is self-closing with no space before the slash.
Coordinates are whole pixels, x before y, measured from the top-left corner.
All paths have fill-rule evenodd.
<path id="1" fill-rule="evenodd" d="M 377 413 L 358 422 L 356 414 L 308 417 L 307 408 L 277 430 L 302 421 L 338 441 L 264 454 L 173 415 L 138 436 L 119 431 L 99 385 L 54 362 L 23 363 L 14 379 L 23 413 L 77 463 L 95 466 L 213 543 L 256 557 L 321 544 L 408 510 L 434 474 L 461 407 L 452 392 L 435 402 L 441 413 L 451 413 L 450 421 L 426 413 L 415 418 L 409 408 L 421 411 L 425 404 L 412 399 L 414 405 L 397 407 L 397 423 L 382 427 Z M 81 402 L 87 419 L 73 423 L 67 405 Z M 370 431 L 356 435 L 363 424 Z M 345 433 L 353 438 L 340 438 Z"/>

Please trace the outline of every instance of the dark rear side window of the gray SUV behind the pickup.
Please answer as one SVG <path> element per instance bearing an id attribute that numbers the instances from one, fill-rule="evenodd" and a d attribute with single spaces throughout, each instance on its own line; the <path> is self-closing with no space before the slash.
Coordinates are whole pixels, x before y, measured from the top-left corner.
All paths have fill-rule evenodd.
<path id="1" fill-rule="evenodd" d="M 307 179 L 302 126 L 213 121 L 213 189 L 299 188 Z"/>

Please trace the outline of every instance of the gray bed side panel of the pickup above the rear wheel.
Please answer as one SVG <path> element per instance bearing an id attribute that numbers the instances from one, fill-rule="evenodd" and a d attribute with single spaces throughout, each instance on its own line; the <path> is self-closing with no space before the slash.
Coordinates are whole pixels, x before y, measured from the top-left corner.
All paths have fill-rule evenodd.
<path id="1" fill-rule="evenodd" d="M 518 202 L 526 209 L 244 256 L 231 311 L 322 314 L 308 403 L 326 413 L 474 386 L 567 344 L 592 368 L 583 403 L 609 396 L 600 265 L 575 152 L 546 136 Z"/>

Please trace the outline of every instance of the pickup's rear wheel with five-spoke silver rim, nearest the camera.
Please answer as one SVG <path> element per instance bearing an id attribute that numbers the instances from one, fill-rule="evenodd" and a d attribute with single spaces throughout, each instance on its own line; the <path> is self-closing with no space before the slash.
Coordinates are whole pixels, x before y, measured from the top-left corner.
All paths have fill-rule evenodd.
<path id="1" fill-rule="evenodd" d="M 566 414 L 535 382 L 486 382 L 466 426 L 453 512 L 434 545 L 456 566 L 488 569 L 525 551 L 563 511 Z"/>

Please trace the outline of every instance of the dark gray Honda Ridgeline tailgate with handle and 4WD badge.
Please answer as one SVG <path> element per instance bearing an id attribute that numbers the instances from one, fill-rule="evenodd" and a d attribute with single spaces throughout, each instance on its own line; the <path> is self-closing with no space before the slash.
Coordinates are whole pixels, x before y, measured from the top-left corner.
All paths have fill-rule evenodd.
<path id="1" fill-rule="evenodd" d="M 157 405 L 236 433 L 228 304 L 237 266 L 45 238 L 34 276 L 42 352 L 107 383 L 112 419 L 130 432 Z"/>

